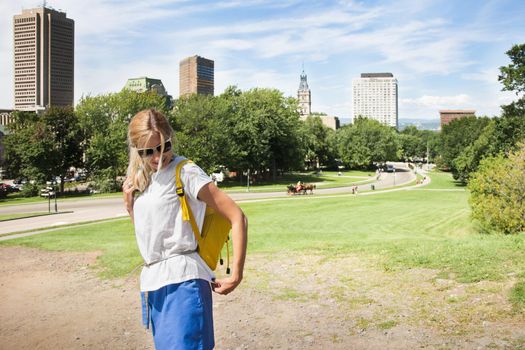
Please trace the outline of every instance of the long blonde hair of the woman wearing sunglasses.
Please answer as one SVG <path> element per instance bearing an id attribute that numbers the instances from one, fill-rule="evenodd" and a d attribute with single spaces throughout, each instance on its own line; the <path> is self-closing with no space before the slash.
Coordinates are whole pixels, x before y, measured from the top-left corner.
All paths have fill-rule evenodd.
<path id="1" fill-rule="evenodd" d="M 160 136 L 161 153 L 163 154 L 164 143 L 173 136 L 173 129 L 166 117 L 154 109 L 145 109 L 131 118 L 128 127 L 129 164 L 127 175 L 133 187 L 140 192 L 144 192 L 148 187 L 151 175 L 160 170 L 163 163 L 161 158 L 159 168 L 153 169 L 149 162 L 138 153 L 138 149 L 144 147 L 155 133 Z"/>

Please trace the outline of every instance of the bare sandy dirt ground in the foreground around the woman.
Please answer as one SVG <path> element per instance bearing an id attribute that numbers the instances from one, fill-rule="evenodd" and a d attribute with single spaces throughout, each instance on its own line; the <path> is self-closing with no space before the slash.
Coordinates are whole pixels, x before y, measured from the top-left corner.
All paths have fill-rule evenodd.
<path id="1" fill-rule="evenodd" d="M 153 349 L 137 279 L 102 281 L 96 253 L 0 248 L 1 349 Z M 459 284 L 356 257 L 250 257 L 214 296 L 217 349 L 524 349 L 511 283 Z"/>

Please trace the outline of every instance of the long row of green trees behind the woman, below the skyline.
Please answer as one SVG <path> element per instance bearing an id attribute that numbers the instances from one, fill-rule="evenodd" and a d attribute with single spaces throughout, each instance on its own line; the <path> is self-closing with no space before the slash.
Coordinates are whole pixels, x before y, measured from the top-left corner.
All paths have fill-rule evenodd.
<path id="1" fill-rule="evenodd" d="M 424 158 L 438 136 L 414 127 L 398 133 L 367 118 L 334 131 L 318 115 L 301 121 L 296 99 L 275 89 L 229 87 L 219 96 L 181 98 L 170 110 L 154 92 L 123 90 L 84 97 L 76 110 L 51 108 L 40 117 L 16 112 L 5 142 L 8 175 L 63 180 L 73 166 L 85 168 L 100 189 L 117 189 L 127 167 L 129 120 L 145 108 L 165 113 L 175 130 L 175 151 L 207 172 L 225 167 L 267 178 L 304 168 L 370 168 Z"/>

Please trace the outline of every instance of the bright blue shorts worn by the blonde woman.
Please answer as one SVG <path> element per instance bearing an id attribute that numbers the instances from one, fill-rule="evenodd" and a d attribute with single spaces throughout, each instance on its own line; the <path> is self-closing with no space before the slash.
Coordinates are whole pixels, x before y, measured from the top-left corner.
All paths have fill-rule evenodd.
<path id="1" fill-rule="evenodd" d="M 213 309 L 208 281 L 194 279 L 141 294 L 148 305 L 143 309 L 143 321 L 146 326 L 151 322 L 155 349 L 213 349 Z"/>

